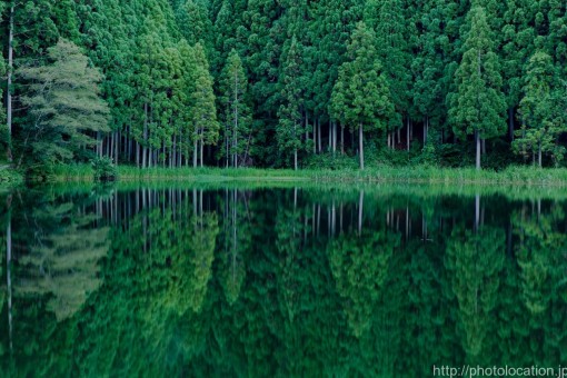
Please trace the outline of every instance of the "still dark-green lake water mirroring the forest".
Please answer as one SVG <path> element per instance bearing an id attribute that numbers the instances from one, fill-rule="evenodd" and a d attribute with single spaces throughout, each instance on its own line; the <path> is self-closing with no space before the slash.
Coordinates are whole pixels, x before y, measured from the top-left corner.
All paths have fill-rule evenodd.
<path id="1" fill-rule="evenodd" d="M 564 192 L 284 187 L 0 192 L 0 376 L 567 361 Z"/>

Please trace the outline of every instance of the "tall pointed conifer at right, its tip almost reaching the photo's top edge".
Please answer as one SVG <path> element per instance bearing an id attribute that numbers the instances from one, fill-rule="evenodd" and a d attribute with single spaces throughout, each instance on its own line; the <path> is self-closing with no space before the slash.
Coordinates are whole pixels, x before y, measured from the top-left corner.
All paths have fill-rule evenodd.
<path id="1" fill-rule="evenodd" d="M 498 57 L 493 52 L 493 36 L 486 12 L 475 7 L 469 12 L 470 31 L 465 53 L 455 73 L 456 92 L 449 97 L 449 117 L 459 137 L 475 135 L 476 167 L 480 169 L 481 139 L 500 136 L 506 123 Z"/>

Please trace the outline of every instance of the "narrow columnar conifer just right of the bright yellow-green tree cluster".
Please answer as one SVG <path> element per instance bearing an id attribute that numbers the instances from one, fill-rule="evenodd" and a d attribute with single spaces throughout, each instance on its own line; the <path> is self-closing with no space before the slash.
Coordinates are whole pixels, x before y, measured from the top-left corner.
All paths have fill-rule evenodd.
<path id="1" fill-rule="evenodd" d="M 222 72 L 221 102 L 225 122 L 225 146 L 221 153 L 227 166 L 238 168 L 248 160 L 251 141 L 251 112 L 248 97 L 248 80 L 242 60 L 232 49 Z"/>

